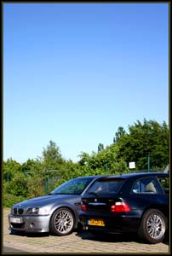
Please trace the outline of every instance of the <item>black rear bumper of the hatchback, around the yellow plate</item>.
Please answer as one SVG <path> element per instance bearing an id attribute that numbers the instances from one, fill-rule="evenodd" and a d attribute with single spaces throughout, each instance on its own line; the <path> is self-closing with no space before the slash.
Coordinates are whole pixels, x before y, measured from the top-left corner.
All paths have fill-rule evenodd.
<path id="1" fill-rule="evenodd" d="M 89 225 L 89 219 L 103 219 L 105 226 Z M 137 232 L 140 226 L 140 218 L 138 216 L 114 215 L 93 213 L 90 214 L 80 212 L 79 219 L 81 223 L 89 230 L 100 230 L 111 233 Z"/>

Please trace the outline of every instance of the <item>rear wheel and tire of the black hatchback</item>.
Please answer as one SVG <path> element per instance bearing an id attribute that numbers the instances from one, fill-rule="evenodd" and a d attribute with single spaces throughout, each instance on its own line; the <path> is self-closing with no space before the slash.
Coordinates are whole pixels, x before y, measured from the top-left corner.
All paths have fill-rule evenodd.
<path id="1" fill-rule="evenodd" d="M 149 243 L 162 242 L 167 229 L 167 219 L 158 209 L 147 210 L 140 223 L 138 236 Z"/>

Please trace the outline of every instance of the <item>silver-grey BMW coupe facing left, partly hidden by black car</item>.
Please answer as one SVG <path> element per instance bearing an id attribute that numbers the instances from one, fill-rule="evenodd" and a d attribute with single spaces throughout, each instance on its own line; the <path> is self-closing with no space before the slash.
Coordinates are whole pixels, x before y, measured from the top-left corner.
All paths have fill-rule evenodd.
<path id="1" fill-rule="evenodd" d="M 50 232 L 66 236 L 77 229 L 81 195 L 98 177 L 76 177 L 61 184 L 49 195 L 21 201 L 11 208 L 9 230 L 26 232 Z"/>

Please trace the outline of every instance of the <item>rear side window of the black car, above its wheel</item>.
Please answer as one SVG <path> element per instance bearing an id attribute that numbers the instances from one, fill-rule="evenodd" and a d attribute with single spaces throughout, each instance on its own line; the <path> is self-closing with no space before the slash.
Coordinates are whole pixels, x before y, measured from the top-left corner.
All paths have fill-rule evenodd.
<path id="1" fill-rule="evenodd" d="M 158 194 L 158 186 L 154 177 L 144 177 L 137 180 L 132 188 L 135 194 Z"/>

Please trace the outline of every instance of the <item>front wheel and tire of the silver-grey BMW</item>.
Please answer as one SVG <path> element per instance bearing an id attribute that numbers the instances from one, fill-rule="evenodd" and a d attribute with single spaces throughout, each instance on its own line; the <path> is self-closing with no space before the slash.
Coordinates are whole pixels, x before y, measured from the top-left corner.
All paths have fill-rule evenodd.
<path id="1" fill-rule="evenodd" d="M 75 219 L 68 208 L 56 210 L 50 220 L 50 232 L 56 236 L 66 236 L 72 233 Z"/>

